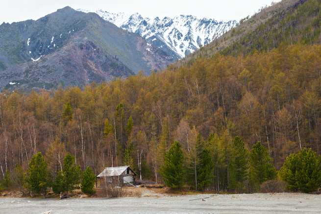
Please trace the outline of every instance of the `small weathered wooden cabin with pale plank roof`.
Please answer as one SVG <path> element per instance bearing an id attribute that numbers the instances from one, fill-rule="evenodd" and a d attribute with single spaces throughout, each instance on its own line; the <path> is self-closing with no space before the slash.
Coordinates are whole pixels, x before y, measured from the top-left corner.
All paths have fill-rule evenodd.
<path id="1" fill-rule="evenodd" d="M 105 182 L 109 185 L 123 186 L 134 185 L 137 174 L 129 166 L 106 167 L 98 176 L 99 187 L 104 187 Z"/>

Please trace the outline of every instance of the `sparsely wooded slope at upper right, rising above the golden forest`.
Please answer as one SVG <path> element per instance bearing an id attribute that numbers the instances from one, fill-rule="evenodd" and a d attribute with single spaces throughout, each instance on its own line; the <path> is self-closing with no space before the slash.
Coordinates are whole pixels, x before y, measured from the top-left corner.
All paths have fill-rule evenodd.
<path id="1" fill-rule="evenodd" d="M 252 54 L 269 51 L 280 45 L 320 44 L 320 0 L 282 0 L 240 21 L 239 26 L 214 40 L 208 46 L 186 57 L 182 62 L 198 57 Z"/>

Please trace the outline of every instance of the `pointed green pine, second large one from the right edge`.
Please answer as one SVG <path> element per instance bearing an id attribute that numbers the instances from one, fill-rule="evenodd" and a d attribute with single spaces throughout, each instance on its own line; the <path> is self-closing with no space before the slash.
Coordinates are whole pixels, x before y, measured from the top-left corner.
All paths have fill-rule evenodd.
<path id="1" fill-rule="evenodd" d="M 253 145 L 249 155 L 249 164 L 249 183 L 252 190 L 257 191 L 263 182 L 276 178 L 272 158 L 261 142 Z"/>

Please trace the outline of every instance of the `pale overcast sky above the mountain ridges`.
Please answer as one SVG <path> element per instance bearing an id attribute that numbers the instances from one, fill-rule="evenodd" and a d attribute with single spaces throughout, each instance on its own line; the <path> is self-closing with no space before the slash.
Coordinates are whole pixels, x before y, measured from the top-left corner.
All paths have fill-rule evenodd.
<path id="1" fill-rule="evenodd" d="M 237 20 L 280 0 L 0 0 L 0 23 L 37 20 L 65 6 L 109 12 L 138 12 L 145 17 L 194 15 Z"/>

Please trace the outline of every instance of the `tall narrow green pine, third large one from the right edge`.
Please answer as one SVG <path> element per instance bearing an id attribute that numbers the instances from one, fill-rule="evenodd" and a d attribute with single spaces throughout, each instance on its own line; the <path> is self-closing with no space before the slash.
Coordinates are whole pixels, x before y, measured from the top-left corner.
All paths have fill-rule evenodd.
<path id="1" fill-rule="evenodd" d="M 235 137 L 232 159 L 229 164 L 229 189 L 244 191 L 244 182 L 248 173 L 248 151 L 240 137 Z"/>

